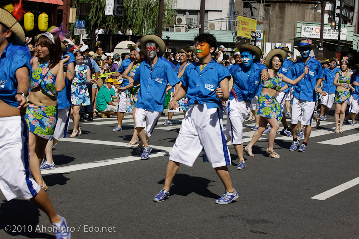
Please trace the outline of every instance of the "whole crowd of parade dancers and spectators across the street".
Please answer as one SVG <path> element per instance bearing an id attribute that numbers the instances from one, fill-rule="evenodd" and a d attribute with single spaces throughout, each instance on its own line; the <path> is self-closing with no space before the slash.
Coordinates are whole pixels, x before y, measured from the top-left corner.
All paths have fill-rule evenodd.
<path id="1" fill-rule="evenodd" d="M 278 132 L 293 137 L 290 151 L 297 150 L 303 139 L 298 150 L 305 152 L 312 120 L 319 126 L 334 102 L 335 133 L 343 133 L 343 123 L 354 125 L 359 112 L 358 68 L 350 70 L 347 59 L 316 60 L 310 56 L 315 45 L 308 40 L 295 47 L 301 55 L 296 61 L 284 45 L 264 58 L 259 47 L 237 44 L 231 60 L 219 64 L 226 58 L 224 46 L 216 52 L 217 40 L 207 33 L 178 52 L 170 52 L 160 37 L 146 35 L 128 45 L 129 53 L 119 55 L 104 53 L 100 45 L 94 51 L 83 42 L 77 46 L 61 27 L 37 35 L 32 42 L 18 20 L 16 12 L 0 8 L 4 74 L 0 79 L 0 188 L 7 200 L 31 199 L 46 212 L 57 238 L 69 238 L 70 232 L 45 192 L 48 187 L 41 170 L 55 169 L 52 147 L 66 137 L 69 119 L 74 122 L 69 137 L 74 138 L 81 136 L 80 122 L 85 119 L 117 116 L 113 131 L 119 132 L 124 115 L 131 113 L 134 128 L 128 145 L 136 145 L 136 152 L 146 160 L 152 150 L 148 140 L 169 94 L 168 120 L 163 124 L 171 125 L 179 110 L 184 119 L 169 157 L 165 185 L 153 200 L 167 199 L 180 164 L 193 166 L 203 150 L 225 188 L 215 202 L 228 204 L 239 196 L 227 168 L 232 164 L 227 142 L 233 143 L 238 156 L 236 168 L 243 170 L 244 152 L 254 157 L 252 147 L 263 133 L 269 133 L 267 155 L 279 158 L 274 151 Z M 288 114 L 283 114 L 284 106 Z M 227 114 L 225 127 L 223 114 Z M 286 116 L 291 116 L 290 126 Z M 252 128 L 256 132 L 243 148 L 246 119 L 256 120 Z M 284 129 L 278 131 L 280 123 Z"/>

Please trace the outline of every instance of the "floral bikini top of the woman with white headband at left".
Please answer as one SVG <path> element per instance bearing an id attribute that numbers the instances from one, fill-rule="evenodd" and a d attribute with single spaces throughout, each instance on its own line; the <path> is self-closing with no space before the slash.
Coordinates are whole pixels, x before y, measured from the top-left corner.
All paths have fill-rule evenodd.
<path id="1" fill-rule="evenodd" d="M 55 88 L 56 77 L 50 71 L 49 62 L 39 63 L 31 71 L 30 89 L 41 87 L 49 96 L 55 96 L 57 93 Z"/>

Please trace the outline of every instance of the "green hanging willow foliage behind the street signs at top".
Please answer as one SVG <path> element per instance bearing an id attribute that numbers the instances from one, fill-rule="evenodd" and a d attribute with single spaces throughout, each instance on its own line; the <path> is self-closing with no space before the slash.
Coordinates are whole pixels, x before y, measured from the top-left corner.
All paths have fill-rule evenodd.
<path id="1" fill-rule="evenodd" d="M 160 0 L 125 0 L 124 16 L 105 15 L 106 0 L 72 0 L 72 6 L 77 7 L 78 3 L 91 3 L 91 11 L 88 16 L 76 16 L 76 19 L 85 20 L 88 32 L 93 32 L 98 26 L 110 25 L 114 32 L 117 32 L 121 25 L 123 33 L 130 23 L 133 24 L 134 35 L 157 34 L 157 23 Z M 163 27 L 168 23 L 174 24 L 175 6 L 177 0 L 164 0 Z M 74 26 L 70 26 L 73 34 Z"/>

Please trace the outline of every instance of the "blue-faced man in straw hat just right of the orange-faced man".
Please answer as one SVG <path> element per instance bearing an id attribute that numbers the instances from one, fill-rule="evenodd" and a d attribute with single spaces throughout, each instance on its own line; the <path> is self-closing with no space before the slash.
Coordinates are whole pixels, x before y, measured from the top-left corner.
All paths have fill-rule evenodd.
<path id="1" fill-rule="evenodd" d="M 259 60 L 262 50 L 250 44 L 238 44 L 242 63 L 233 66 L 230 73 L 233 76 L 233 88 L 228 103 L 228 119 L 225 127 L 227 141 L 232 139 L 239 164 L 237 169 L 245 168 L 243 158 L 243 123 L 251 108 L 252 98 L 259 92 L 261 80 L 268 80 L 268 68 L 255 61 Z M 255 109 L 255 108 L 254 108 Z"/>

